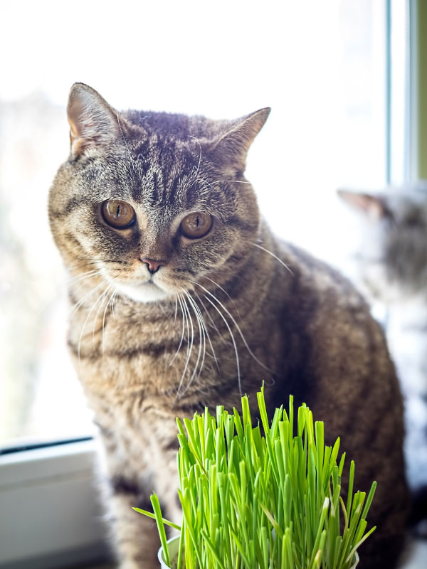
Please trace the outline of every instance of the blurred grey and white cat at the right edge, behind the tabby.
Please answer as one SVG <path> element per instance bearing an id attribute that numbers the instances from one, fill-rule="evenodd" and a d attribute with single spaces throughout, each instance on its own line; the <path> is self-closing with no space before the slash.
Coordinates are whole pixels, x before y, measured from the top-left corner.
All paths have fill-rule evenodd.
<path id="1" fill-rule="evenodd" d="M 357 280 L 372 302 L 386 306 L 386 336 L 406 410 L 406 467 L 416 496 L 427 486 L 427 186 L 388 193 L 340 191 L 363 213 L 355 255 Z M 426 504 L 416 504 L 418 517 Z M 414 520 L 416 521 L 416 520 Z"/>

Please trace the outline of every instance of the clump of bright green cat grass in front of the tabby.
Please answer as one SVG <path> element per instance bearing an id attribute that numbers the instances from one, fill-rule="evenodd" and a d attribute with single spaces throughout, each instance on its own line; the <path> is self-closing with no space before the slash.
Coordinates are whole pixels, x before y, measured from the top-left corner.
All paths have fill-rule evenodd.
<path id="1" fill-rule="evenodd" d="M 135 511 L 156 519 L 169 566 L 164 525 L 181 532 L 176 569 L 349 569 L 375 529 L 367 531 L 367 514 L 376 482 L 368 496 L 354 494 L 352 461 L 344 503 L 339 438 L 325 445 L 323 422 L 305 404 L 294 433 L 292 396 L 270 422 L 263 388 L 257 396 L 263 432 L 246 396 L 242 415 L 218 406 L 216 417 L 206 408 L 177 419 L 181 526 L 162 517 L 156 494 L 154 513 Z"/>

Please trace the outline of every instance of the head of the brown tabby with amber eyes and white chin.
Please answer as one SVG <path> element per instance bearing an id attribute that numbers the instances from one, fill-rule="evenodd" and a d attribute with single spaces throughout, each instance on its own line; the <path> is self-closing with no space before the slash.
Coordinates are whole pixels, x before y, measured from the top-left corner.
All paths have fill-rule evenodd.
<path id="1" fill-rule="evenodd" d="M 119 113 L 91 87 L 73 85 L 70 156 L 49 198 L 65 264 L 99 270 L 141 302 L 235 271 L 259 230 L 243 171 L 269 111 L 234 121 Z"/>

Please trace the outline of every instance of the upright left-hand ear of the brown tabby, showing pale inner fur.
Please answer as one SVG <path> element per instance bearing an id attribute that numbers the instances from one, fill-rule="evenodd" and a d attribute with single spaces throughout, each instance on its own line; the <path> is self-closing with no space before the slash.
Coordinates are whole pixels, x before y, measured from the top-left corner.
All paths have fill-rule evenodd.
<path id="1" fill-rule="evenodd" d="M 105 146 L 120 134 L 117 111 L 84 83 L 74 83 L 71 87 L 67 115 L 73 156 L 91 147 Z"/>

